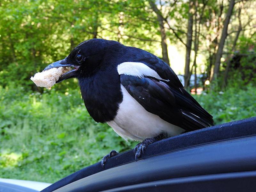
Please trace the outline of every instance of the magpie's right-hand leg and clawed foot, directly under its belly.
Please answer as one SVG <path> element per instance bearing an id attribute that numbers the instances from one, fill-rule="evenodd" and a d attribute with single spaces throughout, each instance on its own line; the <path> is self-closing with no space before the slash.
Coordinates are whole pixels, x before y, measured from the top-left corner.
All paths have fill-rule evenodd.
<path id="1" fill-rule="evenodd" d="M 162 140 L 166 138 L 164 134 L 158 135 L 156 137 L 152 138 L 147 138 L 143 140 L 142 142 L 138 143 L 135 148 L 133 149 L 133 153 L 135 155 L 135 161 L 138 161 L 138 157 L 140 157 L 141 152 L 144 154 L 146 148 L 148 147 L 149 144 L 154 143 L 156 141 Z"/>

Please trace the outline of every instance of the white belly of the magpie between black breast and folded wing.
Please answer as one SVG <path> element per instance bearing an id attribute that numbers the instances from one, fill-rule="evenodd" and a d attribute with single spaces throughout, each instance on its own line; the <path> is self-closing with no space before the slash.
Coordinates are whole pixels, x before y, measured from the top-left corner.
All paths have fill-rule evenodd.
<path id="1" fill-rule="evenodd" d="M 121 85 L 123 101 L 113 121 L 107 122 L 125 140 L 144 140 L 161 133 L 178 135 L 185 130 L 146 111 Z"/>

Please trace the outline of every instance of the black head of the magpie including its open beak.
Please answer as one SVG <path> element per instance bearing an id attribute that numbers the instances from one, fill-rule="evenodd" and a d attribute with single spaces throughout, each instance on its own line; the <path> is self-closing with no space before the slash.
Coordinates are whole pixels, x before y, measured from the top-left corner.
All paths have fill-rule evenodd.
<path id="1" fill-rule="evenodd" d="M 77 45 L 69 55 L 63 59 L 48 65 L 45 70 L 58 67 L 70 67 L 71 70 L 62 74 L 56 83 L 68 78 L 80 78 L 90 76 L 99 70 L 101 60 L 106 52 L 119 46 L 116 41 L 105 39 L 90 39 Z"/>

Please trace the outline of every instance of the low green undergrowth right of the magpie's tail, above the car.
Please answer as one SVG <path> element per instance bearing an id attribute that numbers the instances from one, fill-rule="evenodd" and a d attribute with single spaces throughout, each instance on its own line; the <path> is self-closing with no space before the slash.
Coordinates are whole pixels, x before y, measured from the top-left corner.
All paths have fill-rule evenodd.
<path id="1" fill-rule="evenodd" d="M 212 90 L 195 99 L 213 116 L 214 124 L 256 116 L 256 88 L 252 85 L 229 87 L 224 92 Z"/>

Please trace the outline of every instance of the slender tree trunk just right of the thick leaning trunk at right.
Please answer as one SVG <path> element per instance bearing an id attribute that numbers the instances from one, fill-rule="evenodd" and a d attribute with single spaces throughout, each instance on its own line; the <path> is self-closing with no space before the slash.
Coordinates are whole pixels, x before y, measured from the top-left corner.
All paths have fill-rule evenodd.
<path id="1" fill-rule="evenodd" d="M 242 22 L 241 22 L 241 7 L 238 10 L 238 20 L 239 20 L 239 27 L 238 30 L 236 32 L 236 37 L 235 40 L 233 42 L 233 46 L 232 46 L 232 52 L 236 51 L 236 42 L 238 40 L 239 34 L 242 31 Z M 223 85 L 222 88 L 226 87 L 227 85 L 227 80 L 228 80 L 228 71 L 229 71 L 229 67 L 230 67 L 230 60 L 231 60 L 231 55 L 228 55 L 228 59 L 227 59 L 227 67 L 225 69 L 224 72 L 224 81 L 223 81 Z"/>

